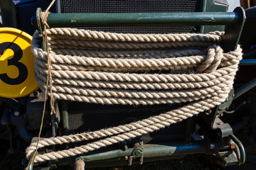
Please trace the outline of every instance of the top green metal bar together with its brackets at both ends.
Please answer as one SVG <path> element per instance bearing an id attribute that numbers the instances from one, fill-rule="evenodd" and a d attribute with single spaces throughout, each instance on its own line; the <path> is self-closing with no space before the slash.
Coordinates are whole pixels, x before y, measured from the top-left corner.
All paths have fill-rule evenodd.
<path id="1" fill-rule="evenodd" d="M 32 19 L 42 32 L 41 9 Z M 105 26 L 188 26 L 188 25 L 225 25 L 225 35 L 221 46 L 225 52 L 235 50 L 242 27 L 245 23 L 245 11 L 242 7 L 234 12 L 194 12 L 194 13 L 49 13 L 50 27 L 105 27 Z M 40 33 L 39 33 L 40 34 Z M 43 38 L 42 38 L 43 40 Z M 44 42 L 44 41 L 42 41 Z M 42 43 L 42 47 L 45 45 Z"/>

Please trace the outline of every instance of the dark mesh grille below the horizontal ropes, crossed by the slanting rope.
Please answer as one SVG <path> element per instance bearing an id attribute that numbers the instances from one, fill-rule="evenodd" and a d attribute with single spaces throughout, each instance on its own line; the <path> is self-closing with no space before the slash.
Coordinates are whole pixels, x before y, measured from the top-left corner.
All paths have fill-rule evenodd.
<path id="1" fill-rule="evenodd" d="M 68 125 L 70 133 L 94 131 L 149 118 L 151 115 L 159 115 L 176 107 L 174 105 L 108 106 L 68 101 Z M 159 130 L 157 134 L 153 132 L 144 135 L 143 138 L 145 143 L 160 138 L 177 141 L 185 137 L 185 130 L 186 121 L 183 121 Z"/>

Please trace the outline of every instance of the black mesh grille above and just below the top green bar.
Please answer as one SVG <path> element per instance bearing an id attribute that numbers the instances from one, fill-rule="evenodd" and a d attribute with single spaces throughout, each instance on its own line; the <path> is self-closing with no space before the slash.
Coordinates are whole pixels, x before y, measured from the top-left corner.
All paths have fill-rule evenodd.
<path id="1" fill-rule="evenodd" d="M 61 0 L 61 13 L 199 12 L 202 0 Z M 195 26 L 87 28 L 114 33 L 196 33 Z"/>

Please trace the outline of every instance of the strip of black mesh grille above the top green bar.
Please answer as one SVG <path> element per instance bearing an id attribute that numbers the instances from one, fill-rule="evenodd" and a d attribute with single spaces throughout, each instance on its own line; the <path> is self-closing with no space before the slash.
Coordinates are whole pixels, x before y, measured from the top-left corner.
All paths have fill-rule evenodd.
<path id="1" fill-rule="evenodd" d="M 61 0 L 62 13 L 196 12 L 197 0 Z"/>

